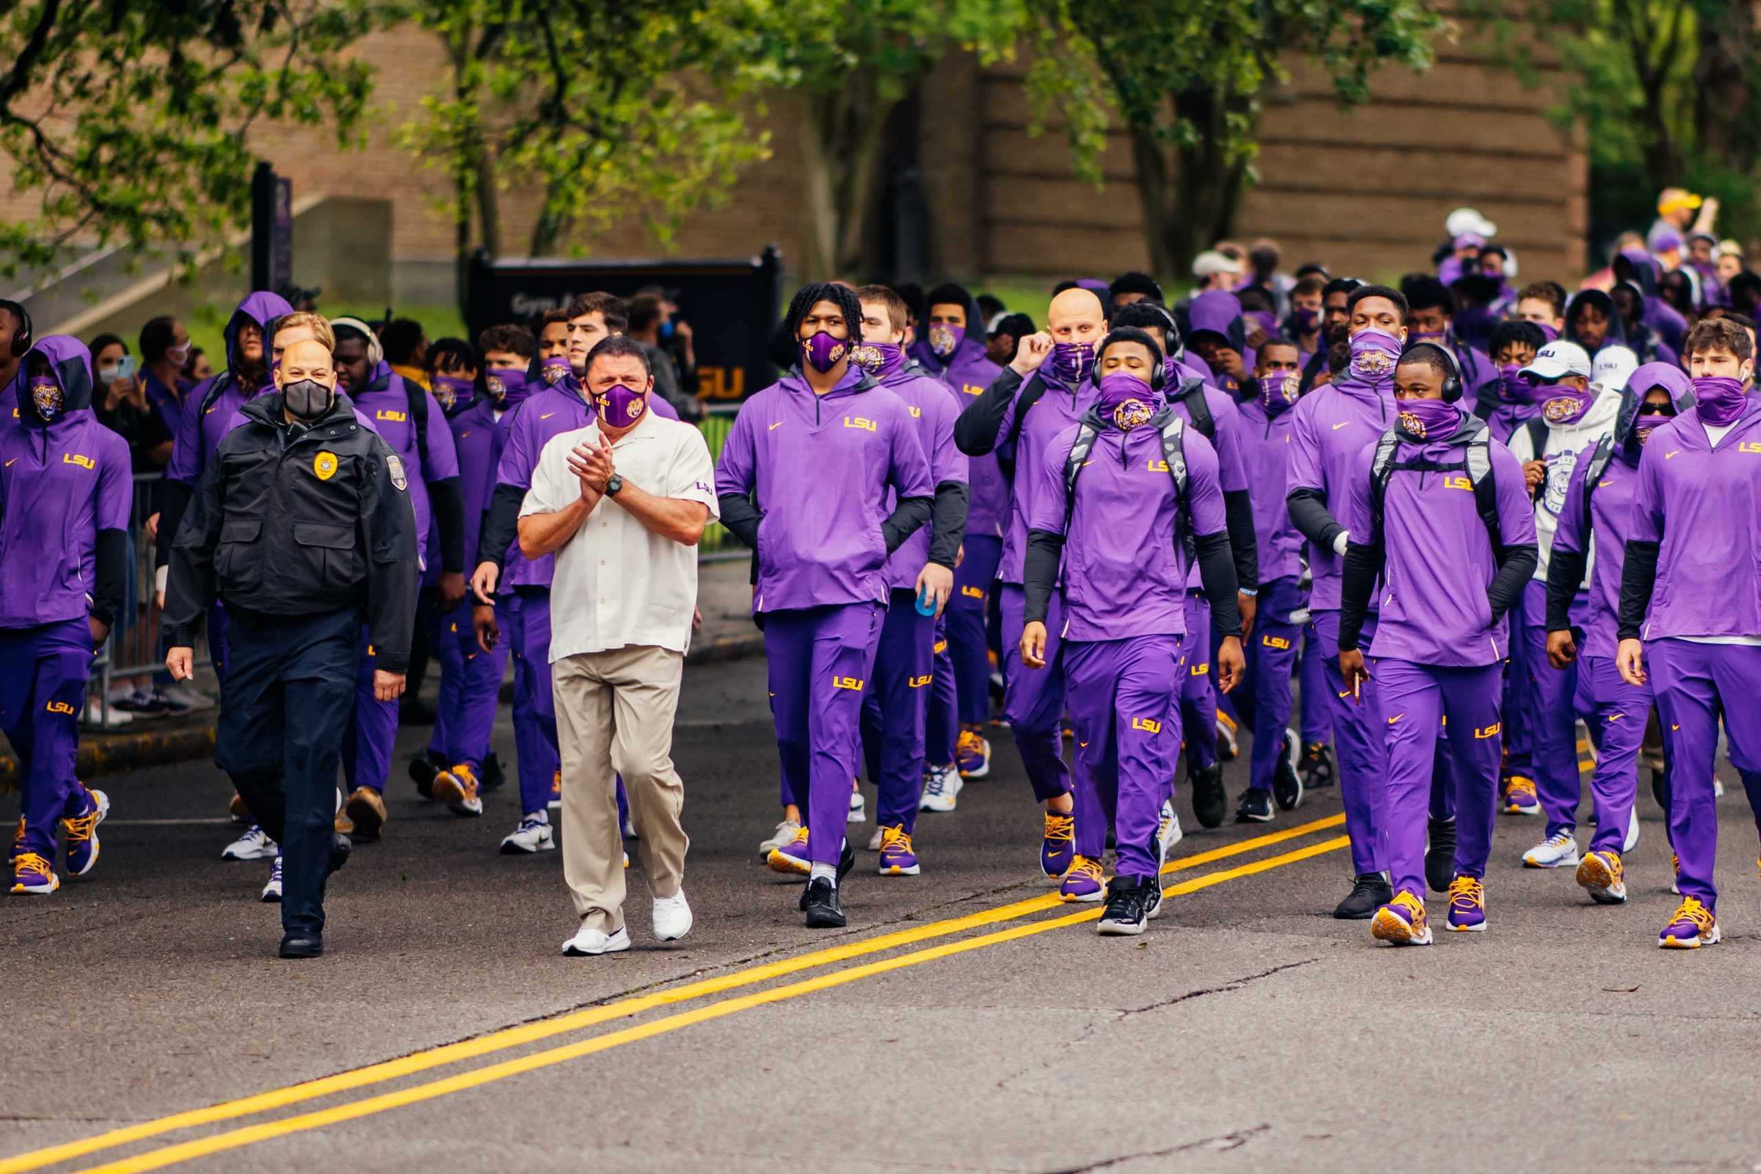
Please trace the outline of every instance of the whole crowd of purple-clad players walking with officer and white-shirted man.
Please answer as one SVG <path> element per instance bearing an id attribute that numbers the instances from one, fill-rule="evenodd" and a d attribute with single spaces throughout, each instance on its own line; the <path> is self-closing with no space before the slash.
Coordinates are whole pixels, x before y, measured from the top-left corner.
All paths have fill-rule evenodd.
<path id="1" fill-rule="evenodd" d="M 630 949 L 627 869 L 683 938 L 704 910 L 673 727 L 718 523 L 752 551 L 775 720 L 759 861 L 812 928 L 859 921 L 859 866 L 933 873 L 974 780 L 1018 789 L 1023 875 L 1109 936 L 1160 914 L 1176 797 L 1213 829 L 1337 787 L 1351 877 L 1321 908 L 1428 945 L 1497 922 L 1504 866 L 1625 903 L 1648 773 L 1675 873 L 1650 880 L 1680 896 L 1655 942 L 1712 945 L 1720 741 L 1761 825 L 1761 278 L 1696 211 L 1664 192 L 1574 292 L 1518 285 L 1465 208 L 1393 283 L 1286 275 L 1270 241 L 1217 243 L 1175 296 L 810 282 L 715 454 L 664 290 L 431 343 L 254 292 L 201 380 L 183 327 L 150 324 L 151 384 L 122 340 L 32 338 L 0 303 L 11 891 L 99 861 L 113 797 L 76 778 L 79 723 L 95 651 L 144 611 L 139 540 L 166 672 L 123 711 L 187 709 L 206 644 L 241 822 L 217 850 L 268 869 L 284 958 L 324 950 L 331 875 L 396 834 L 412 649 L 438 701 L 410 783 L 467 820 L 518 796 L 500 852 L 560 848 L 564 952 Z M 130 481 L 157 470 L 137 537 Z M 1499 818 L 1532 847 L 1495 859 Z"/>

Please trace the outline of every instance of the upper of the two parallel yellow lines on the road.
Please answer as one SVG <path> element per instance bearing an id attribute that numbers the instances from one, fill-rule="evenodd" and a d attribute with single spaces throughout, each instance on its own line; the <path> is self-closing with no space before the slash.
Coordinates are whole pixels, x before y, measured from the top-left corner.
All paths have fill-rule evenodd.
<path id="1" fill-rule="evenodd" d="M 1250 840 L 1229 843 L 1220 848 L 1212 848 L 1208 852 L 1197 852 L 1194 855 L 1178 857 L 1175 861 L 1169 861 L 1162 868 L 1162 871 L 1173 873 L 1187 868 L 1197 868 L 1201 864 L 1210 864 L 1213 861 L 1222 861 L 1275 843 L 1296 840 L 1298 836 L 1307 836 L 1315 831 L 1338 827 L 1344 822 L 1345 822 L 1344 815 L 1330 815 L 1326 818 L 1310 820 L 1308 824 L 1298 824 L 1296 827 L 1287 827 L 1284 831 L 1270 833 L 1264 836 L 1254 836 Z M 0 1174 L 18 1174 L 19 1170 L 42 1169 L 46 1165 L 55 1165 L 56 1162 L 69 1162 L 72 1158 L 81 1158 L 90 1153 L 97 1153 L 100 1149 L 111 1149 L 113 1146 L 127 1146 L 129 1142 L 146 1141 L 148 1137 L 158 1137 L 162 1134 L 171 1134 L 174 1130 L 183 1130 L 195 1125 L 213 1125 L 215 1121 L 231 1121 L 236 1118 L 250 1116 L 254 1112 L 266 1112 L 269 1109 L 285 1109 L 287 1105 L 294 1105 L 305 1100 L 313 1100 L 317 1097 L 329 1097 L 333 1093 L 343 1093 L 368 1084 L 379 1084 L 382 1081 L 394 1081 L 405 1075 L 414 1075 L 417 1072 L 426 1072 L 430 1068 L 438 1068 L 442 1065 L 456 1063 L 460 1060 L 474 1060 L 477 1056 L 505 1051 L 509 1047 L 519 1047 L 521 1044 L 532 1044 L 535 1040 L 564 1035 L 567 1031 L 578 1031 L 581 1028 L 590 1028 L 601 1023 L 608 1023 L 611 1019 L 627 1019 L 630 1016 L 639 1016 L 657 1007 L 667 1007 L 673 1003 L 703 998 L 706 994 L 720 994 L 724 991 L 733 991 L 757 982 L 770 982 L 771 979 L 799 973 L 803 970 L 812 970 L 815 966 L 829 966 L 833 963 L 849 961 L 852 958 L 879 954 L 884 950 L 898 949 L 902 945 L 914 945 L 917 942 L 926 942 L 930 938 L 940 938 L 953 933 L 976 929 L 979 926 L 990 926 L 1002 921 L 1013 921 L 1016 917 L 1027 917 L 1030 914 L 1037 914 L 1048 908 L 1057 908 L 1058 905 L 1060 901 L 1057 894 L 1044 894 L 1037 898 L 1028 898 L 1025 901 L 998 905 L 997 908 L 969 914 L 965 917 L 932 921 L 921 926 L 914 926 L 910 929 L 900 929 L 896 933 L 882 933 L 873 938 L 861 938 L 824 950 L 812 950 L 808 954 L 799 954 L 796 958 L 785 958 L 775 963 L 763 963 L 757 966 L 748 966 L 745 970 L 734 970 L 731 973 L 718 975 L 715 979 L 690 982 L 667 991 L 637 994 L 634 998 L 618 1000 L 615 1003 L 606 1003 L 602 1007 L 586 1007 L 583 1010 L 567 1012 L 549 1019 L 539 1019 L 535 1023 L 523 1023 L 519 1026 L 502 1028 L 498 1031 L 490 1031 L 486 1035 L 479 1035 L 468 1040 L 444 1044 L 440 1047 L 424 1049 L 419 1053 L 412 1053 L 409 1056 L 400 1056 L 396 1060 L 366 1065 L 363 1068 L 350 1068 L 347 1072 L 319 1077 L 315 1081 L 303 1081 L 299 1084 L 273 1088 L 262 1093 L 254 1093 L 252 1097 L 241 1097 L 238 1100 L 225 1100 L 213 1105 L 204 1105 L 201 1109 L 188 1109 L 185 1112 L 174 1112 L 164 1118 L 155 1118 L 151 1121 L 141 1121 L 137 1125 L 125 1125 L 123 1128 L 107 1130 L 104 1134 L 95 1134 L 92 1137 L 81 1137 L 70 1142 L 63 1142 L 60 1146 L 32 1149 L 30 1153 L 21 1153 L 16 1158 L 0 1160 Z"/>

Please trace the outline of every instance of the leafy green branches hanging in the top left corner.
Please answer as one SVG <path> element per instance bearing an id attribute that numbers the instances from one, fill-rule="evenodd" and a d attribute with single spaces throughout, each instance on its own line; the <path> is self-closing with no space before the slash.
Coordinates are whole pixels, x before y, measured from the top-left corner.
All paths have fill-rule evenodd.
<path id="1" fill-rule="evenodd" d="M 250 216 L 264 120 L 359 136 L 370 74 L 340 58 L 361 0 L 26 0 L 0 7 L 0 155 L 37 215 L 0 224 L 0 275 L 74 243 L 190 262 Z"/>

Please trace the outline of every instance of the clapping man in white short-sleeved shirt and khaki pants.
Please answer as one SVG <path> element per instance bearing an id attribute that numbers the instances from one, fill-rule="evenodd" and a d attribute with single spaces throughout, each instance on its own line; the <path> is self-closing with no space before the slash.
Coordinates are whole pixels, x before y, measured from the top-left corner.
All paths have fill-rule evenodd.
<path id="1" fill-rule="evenodd" d="M 653 375 L 637 343 L 599 341 L 583 382 L 595 419 L 546 442 L 519 507 L 519 549 L 556 554 L 549 658 L 562 868 L 581 917 L 564 954 L 613 954 L 630 949 L 616 771 L 643 833 L 655 936 L 690 931 L 673 715 L 697 604 L 692 547 L 718 509 L 703 435 L 648 410 Z"/>

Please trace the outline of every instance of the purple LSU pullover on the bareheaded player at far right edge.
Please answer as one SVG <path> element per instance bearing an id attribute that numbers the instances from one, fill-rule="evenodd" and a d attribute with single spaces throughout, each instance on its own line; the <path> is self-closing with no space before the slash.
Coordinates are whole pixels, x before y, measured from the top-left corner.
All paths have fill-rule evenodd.
<path id="1" fill-rule="evenodd" d="M 1652 431 L 1627 540 L 1659 544 L 1647 641 L 1761 635 L 1761 396 L 1717 449 L 1696 412 Z"/>

